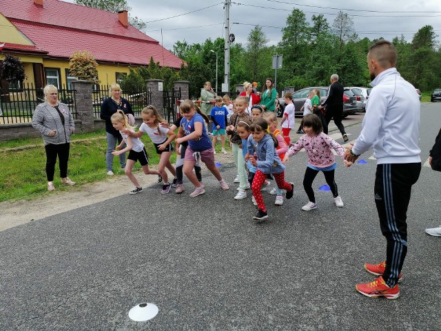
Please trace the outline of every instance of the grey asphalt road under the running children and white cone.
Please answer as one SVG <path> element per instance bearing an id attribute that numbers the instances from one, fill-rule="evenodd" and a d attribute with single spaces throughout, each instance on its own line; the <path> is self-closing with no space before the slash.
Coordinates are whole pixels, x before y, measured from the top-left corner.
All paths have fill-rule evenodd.
<path id="1" fill-rule="evenodd" d="M 361 118 L 345 119 L 350 140 Z M 421 123 L 424 163 L 441 103 L 424 103 Z M 250 194 L 234 201 L 235 184 L 222 191 L 206 175 L 201 197 L 161 195 L 155 185 L 0 232 L 0 330 L 441 330 L 441 239 L 424 233 L 441 223 L 441 173 L 427 166 L 409 205 L 401 297 L 355 291 L 374 279 L 363 263 L 385 259 L 371 154 L 349 169 L 338 159 L 344 208 L 316 190 L 319 208 L 300 210 L 300 152 L 287 168 L 294 198 L 278 207 L 264 192 L 265 223 L 252 220 Z M 234 165 L 220 170 L 232 183 Z M 319 174 L 314 186 L 324 184 Z M 158 315 L 130 320 L 141 302 Z"/>

